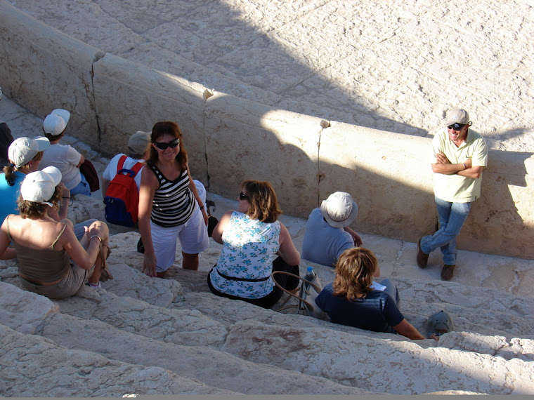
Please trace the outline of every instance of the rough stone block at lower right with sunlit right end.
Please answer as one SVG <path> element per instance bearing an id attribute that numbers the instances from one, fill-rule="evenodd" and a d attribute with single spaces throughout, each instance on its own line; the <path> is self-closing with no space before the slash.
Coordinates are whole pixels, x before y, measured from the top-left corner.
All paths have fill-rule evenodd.
<path id="1" fill-rule="evenodd" d="M 222 351 L 254 363 L 327 378 L 375 393 L 424 394 L 460 390 L 486 394 L 532 394 L 531 361 L 449 349 L 462 333 L 430 340 L 389 340 L 324 328 L 239 321 Z M 443 346 L 443 347 L 442 347 Z M 530 350 L 532 342 L 530 341 Z"/>

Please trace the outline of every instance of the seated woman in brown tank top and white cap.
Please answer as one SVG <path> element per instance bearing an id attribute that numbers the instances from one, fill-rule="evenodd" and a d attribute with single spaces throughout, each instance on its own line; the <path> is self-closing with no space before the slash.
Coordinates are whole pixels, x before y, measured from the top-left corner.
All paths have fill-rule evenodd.
<path id="1" fill-rule="evenodd" d="M 112 277 L 105 268 L 109 232 L 104 222 L 91 223 L 78 241 L 70 220 L 48 215 L 62 196 L 60 182 L 56 167 L 27 174 L 20 185 L 20 215 L 8 215 L 0 228 L 0 258 L 12 242 L 22 287 L 54 299 L 74 295 L 86 281 L 100 287 L 103 275 Z"/>

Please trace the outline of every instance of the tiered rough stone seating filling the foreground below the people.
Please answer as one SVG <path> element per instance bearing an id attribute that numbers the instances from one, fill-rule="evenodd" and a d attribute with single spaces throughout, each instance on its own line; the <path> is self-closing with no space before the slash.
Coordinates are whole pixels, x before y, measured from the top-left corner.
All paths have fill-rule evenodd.
<path id="1" fill-rule="evenodd" d="M 439 309 L 456 316 L 457 331 L 439 342 L 410 341 L 219 298 L 207 291 L 205 270 L 174 268 L 169 279 L 151 279 L 141 273 L 137 240 L 136 232 L 112 236 L 108 261 L 115 279 L 66 300 L 22 291 L 15 262 L 4 262 L 0 363 L 7 367 L 1 374 L 8 385 L 1 395 L 37 395 L 30 380 L 41 393 L 85 395 L 65 383 L 82 379 L 80 371 L 86 371 L 89 387 L 98 385 L 87 395 L 105 396 L 534 393 L 532 298 L 455 282 L 398 279 L 401 307 L 417 328 Z M 15 350 L 6 340 L 27 344 Z M 34 358 L 21 355 L 36 347 L 46 349 L 43 354 L 51 354 L 65 372 L 58 379 L 28 374 L 15 385 L 9 379 L 15 353 L 28 371 L 53 365 L 41 350 Z M 124 379 L 105 382 L 108 370 L 112 376 L 126 371 Z M 128 374 L 146 380 L 129 385 Z"/>

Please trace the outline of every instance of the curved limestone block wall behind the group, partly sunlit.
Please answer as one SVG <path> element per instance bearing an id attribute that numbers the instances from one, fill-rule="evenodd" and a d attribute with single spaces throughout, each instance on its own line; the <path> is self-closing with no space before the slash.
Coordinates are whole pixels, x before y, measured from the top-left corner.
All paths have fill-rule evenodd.
<path id="1" fill-rule="evenodd" d="M 353 227 L 360 232 L 416 241 L 436 227 L 429 138 L 330 123 L 209 91 L 98 51 L 3 0 L 0 55 L 6 95 L 42 117 L 69 109 L 69 134 L 105 156 L 124 151 L 131 133 L 169 119 L 183 128 L 193 176 L 211 192 L 234 197 L 243 179 L 269 180 L 285 213 L 306 217 L 328 194 L 344 190 L 358 201 Z M 534 257 L 532 173 L 531 153 L 490 152 L 482 198 L 460 248 Z"/>

